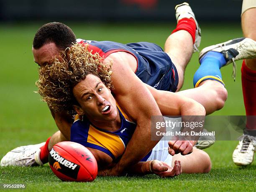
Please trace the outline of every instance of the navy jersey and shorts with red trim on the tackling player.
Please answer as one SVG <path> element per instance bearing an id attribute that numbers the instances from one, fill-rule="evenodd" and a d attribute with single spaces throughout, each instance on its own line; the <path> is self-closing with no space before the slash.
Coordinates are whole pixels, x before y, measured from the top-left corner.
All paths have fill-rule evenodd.
<path id="1" fill-rule="evenodd" d="M 103 59 L 108 55 L 125 51 L 137 60 L 135 74 L 142 82 L 158 90 L 175 92 L 179 82 L 177 70 L 170 57 L 156 44 L 138 42 L 120 44 L 113 41 L 86 41 L 77 39 L 79 44 L 88 44 L 92 54 L 98 53 Z"/>

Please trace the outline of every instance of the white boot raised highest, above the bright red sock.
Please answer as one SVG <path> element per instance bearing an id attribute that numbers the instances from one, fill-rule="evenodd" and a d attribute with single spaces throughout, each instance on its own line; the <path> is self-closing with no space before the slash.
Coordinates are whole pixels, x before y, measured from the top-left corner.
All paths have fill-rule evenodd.
<path id="1" fill-rule="evenodd" d="M 201 42 L 201 29 L 197 23 L 197 20 L 195 19 L 195 14 L 193 13 L 188 3 L 182 3 L 179 5 L 176 5 L 175 10 L 176 10 L 175 16 L 176 16 L 177 23 L 179 20 L 183 18 L 188 18 L 188 19 L 193 18 L 195 20 L 197 28 L 196 28 L 196 34 L 195 34 L 195 44 L 193 45 L 194 46 L 193 52 L 195 51 L 199 52 L 198 47 L 200 46 L 200 42 Z"/>

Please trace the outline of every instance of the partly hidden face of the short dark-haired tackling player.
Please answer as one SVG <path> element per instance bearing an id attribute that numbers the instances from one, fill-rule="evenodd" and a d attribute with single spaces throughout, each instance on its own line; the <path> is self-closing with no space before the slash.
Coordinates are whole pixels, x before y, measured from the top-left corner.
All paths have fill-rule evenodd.
<path id="1" fill-rule="evenodd" d="M 48 64 L 51 59 L 54 59 L 55 56 L 59 55 L 59 49 L 54 43 L 44 44 L 39 49 L 34 49 L 32 47 L 32 52 L 34 56 L 34 61 L 41 68 L 46 66 L 46 64 Z"/>

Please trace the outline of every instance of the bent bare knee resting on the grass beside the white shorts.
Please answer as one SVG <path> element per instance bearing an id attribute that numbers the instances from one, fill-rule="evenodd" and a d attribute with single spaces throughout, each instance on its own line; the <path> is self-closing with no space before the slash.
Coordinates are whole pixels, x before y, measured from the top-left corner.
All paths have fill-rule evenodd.
<path id="1" fill-rule="evenodd" d="M 209 173 L 212 168 L 209 155 L 197 148 L 194 148 L 189 155 L 174 155 L 172 157 L 172 166 L 174 166 L 175 160 L 181 161 L 183 173 Z"/>

